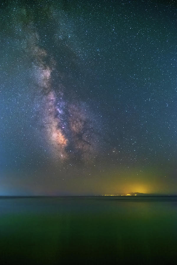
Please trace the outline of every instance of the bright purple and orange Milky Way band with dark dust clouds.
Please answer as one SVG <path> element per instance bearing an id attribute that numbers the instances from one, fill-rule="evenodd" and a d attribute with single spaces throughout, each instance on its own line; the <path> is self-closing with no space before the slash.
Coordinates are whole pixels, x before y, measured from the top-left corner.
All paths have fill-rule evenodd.
<path id="1" fill-rule="evenodd" d="M 26 30 L 29 28 L 30 26 L 27 26 Z M 45 102 L 45 117 L 42 119 L 53 155 L 61 161 L 76 156 L 83 161 L 93 159 L 98 150 L 101 151 L 99 133 L 96 132 L 96 127 L 98 130 L 101 124 L 94 124 L 96 117 L 90 112 L 88 105 L 81 100 L 63 100 L 63 87 L 53 88 L 52 75 L 60 65 L 56 65 L 45 49 L 37 46 L 39 37 L 36 32 L 29 31 L 29 35 L 28 51 L 34 60 L 32 70 L 37 82 L 36 89 L 40 90 L 42 101 Z M 60 75 L 60 72 L 57 74 Z M 72 149 L 72 152 L 69 149 Z"/>

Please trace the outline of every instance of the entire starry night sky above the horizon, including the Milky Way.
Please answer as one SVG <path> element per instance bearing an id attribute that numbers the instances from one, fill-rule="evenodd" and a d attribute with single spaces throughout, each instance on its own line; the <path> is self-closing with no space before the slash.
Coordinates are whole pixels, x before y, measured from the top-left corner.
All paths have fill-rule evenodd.
<path id="1" fill-rule="evenodd" d="M 176 1 L 1 1 L 0 195 L 177 193 Z"/>

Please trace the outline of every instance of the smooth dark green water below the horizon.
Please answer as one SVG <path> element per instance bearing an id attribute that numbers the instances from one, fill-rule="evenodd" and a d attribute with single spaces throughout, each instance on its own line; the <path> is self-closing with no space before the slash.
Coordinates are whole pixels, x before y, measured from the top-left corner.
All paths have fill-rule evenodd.
<path id="1" fill-rule="evenodd" d="M 0 198 L 0 264 L 177 264 L 177 197 Z"/>

